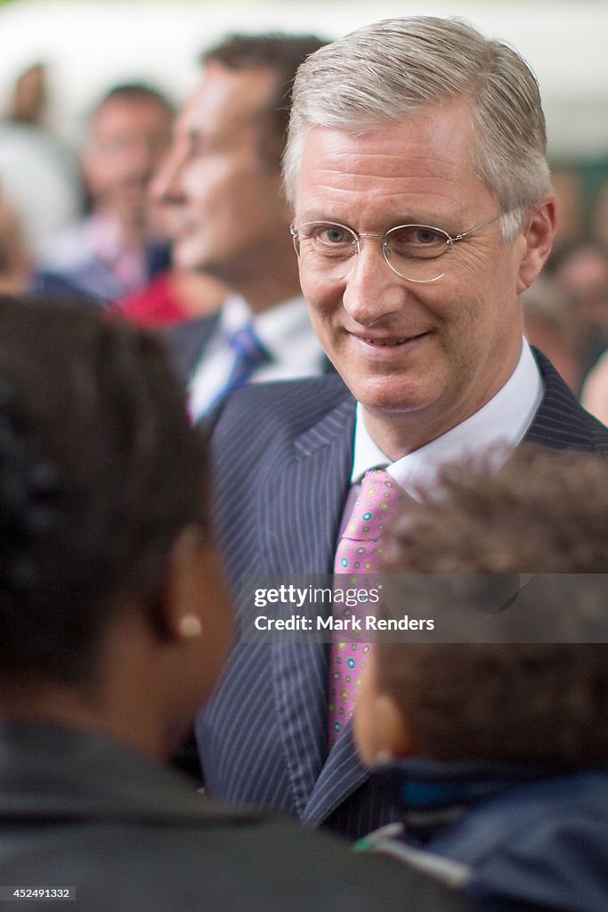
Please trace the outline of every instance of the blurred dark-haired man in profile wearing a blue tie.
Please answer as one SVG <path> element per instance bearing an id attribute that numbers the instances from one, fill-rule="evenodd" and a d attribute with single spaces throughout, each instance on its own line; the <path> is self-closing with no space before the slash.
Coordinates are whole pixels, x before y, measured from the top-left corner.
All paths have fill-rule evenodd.
<path id="1" fill-rule="evenodd" d="M 207 50 L 201 86 L 153 181 L 175 267 L 233 292 L 217 316 L 168 337 L 194 419 L 243 382 L 326 369 L 300 290 L 281 177 L 295 72 L 322 44 L 316 36 L 235 35 Z"/>

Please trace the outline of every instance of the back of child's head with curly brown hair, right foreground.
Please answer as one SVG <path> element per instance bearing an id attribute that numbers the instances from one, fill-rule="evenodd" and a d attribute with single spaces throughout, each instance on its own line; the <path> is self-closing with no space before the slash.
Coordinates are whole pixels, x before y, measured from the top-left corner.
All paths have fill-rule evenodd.
<path id="1" fill-rule="evenodd" d="M 521 597 L 533 627 L 533 615 L 557 617 L 551 612 L 565 601 L 566 634 L 550 629 L 531 642 L 518 634 L 510 642 L 376 643 L 366 681 L 375 693 L 376 732 L 358 720 L 367 762 L 387 731 L 389 751 L 397 745 L 399 754 L 446 762 L 572 770 L 608 761 L 608 652 L 586 638 L 605 615 L 605 461 L 521 447 L 500 472 L 491 460 L 448 467 L 421 503 L 404 504 L 387 534 L 386 557 L 387 572 L 397 575 L 393 597 L 399 593 L 420 617 L 437 604 L 439 590 L 449 610 L 485 611 L 496 581 L 546 575 L 532 577 L 500 615 L 521 610 Z M 547 641 L 551 636 L 562 641 Z"/>

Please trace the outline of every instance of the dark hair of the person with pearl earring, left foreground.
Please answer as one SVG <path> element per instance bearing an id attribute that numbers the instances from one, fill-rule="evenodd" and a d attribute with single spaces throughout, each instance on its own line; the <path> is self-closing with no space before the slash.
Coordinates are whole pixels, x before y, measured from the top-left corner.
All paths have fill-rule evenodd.
<path id="1" fill-rule="evenodd" d="M 127 603 L 167 635 L 176 542 L 209 539 L 204 462 L 155 339 L 93 308 L 2 298 L 3 689 L 89 689 Z"/>

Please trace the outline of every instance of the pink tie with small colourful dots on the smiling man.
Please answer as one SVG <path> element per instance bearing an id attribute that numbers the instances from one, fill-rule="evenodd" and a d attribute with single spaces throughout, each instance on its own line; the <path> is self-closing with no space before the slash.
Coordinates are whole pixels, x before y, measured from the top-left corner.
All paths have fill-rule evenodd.
<path id="1" fill-rule="evenodd" d="M 357 589 L 366 586 L 361 575 L 374 575 L 382 569 L 381 547 L 384 526 L 388 513 L 399 500 L 400 488 L 386 469 L 372 469 L 366 472 L 361 482 L 361 491 L 356 499 L 353 513 L 335 552 L 335 575 L 355 575 Z M 337 586 L 349 585 L 336 580 Z M 336 605 L 334 617 L 341 613 L 342 605 Z M 351 611 L 350 614 L 353 612 Z M 348 636 L 348 634 L 342 635 Z M 357 689 L 361 673 L 366 668 L 369 643 L 338 641 L 335 634 L 332 644 L 329 668 L 329 748 L 334 746 L 340 732 L 355 709 Z"/>

